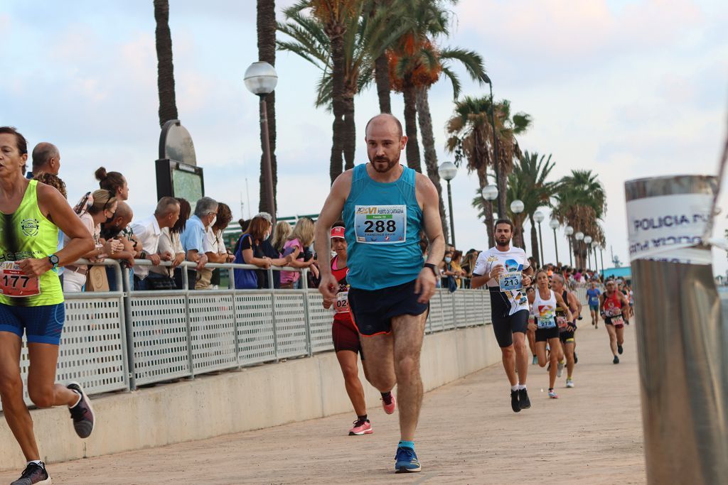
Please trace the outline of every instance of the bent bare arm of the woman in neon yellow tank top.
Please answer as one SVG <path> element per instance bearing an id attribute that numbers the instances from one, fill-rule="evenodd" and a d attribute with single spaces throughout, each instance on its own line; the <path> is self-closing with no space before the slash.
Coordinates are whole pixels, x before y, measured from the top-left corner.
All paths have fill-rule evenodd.
<path id="1" fill-rule="evenodd" d="M 69 241 L 63 246 L 63 249 L 56 252 L 58 256 L 58 265 L 69 265 L 79 257 L 94 249 L 94 241 L 84 223 L 81 222 L 79 216 L 68 205 L 68 201 L 60 195 L 57 189 L 50 185 L 38 184 L 38 207 L 41 213 L 58 226 Z M 17 264 L 23 269 L 28 276 L 41 276 L 43 273 L 52 269 L 52 265 L 48 260 L 50 254 L 37 259 L 28 258 L 18 261 Z"/>

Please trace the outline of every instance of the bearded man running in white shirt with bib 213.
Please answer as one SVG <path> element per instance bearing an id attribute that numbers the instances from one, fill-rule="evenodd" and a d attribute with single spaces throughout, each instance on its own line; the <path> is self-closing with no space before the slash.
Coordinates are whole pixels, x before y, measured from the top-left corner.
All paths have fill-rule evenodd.
<path id="1" fill-rule="evenodd" d="M 470 286 L 479 288 L 487 285 L 491 293 L 493 331 L 510 381 L 510 405 L 514 412 L 520 412 L 521 409 L 531 407 L 526 391 L 526 376 L 529 372 L 529 350 L 526 348 L 529 302 L 525 288 L 531 285 L 533 268 L 523 249 L 510 246 L 512 237 L 513 223 L 507 219 L 497 220 L 496 246 L 478 256 Z"/>

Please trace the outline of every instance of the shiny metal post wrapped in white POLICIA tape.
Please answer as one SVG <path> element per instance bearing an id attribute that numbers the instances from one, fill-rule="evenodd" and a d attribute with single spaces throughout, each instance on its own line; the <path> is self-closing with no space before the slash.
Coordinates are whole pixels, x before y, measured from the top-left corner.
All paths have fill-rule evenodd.
<path id="1" fill-rule="evenodd" d="M 625 183 L 649 484 L 728 484 L 728 322 L 701 245 L 716 189 L 699 175 Z"/>

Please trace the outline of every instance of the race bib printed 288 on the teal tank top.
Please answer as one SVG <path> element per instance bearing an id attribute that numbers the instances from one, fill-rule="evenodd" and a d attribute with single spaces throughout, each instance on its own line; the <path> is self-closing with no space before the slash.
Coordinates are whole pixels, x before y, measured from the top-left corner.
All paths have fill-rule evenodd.
<path id="1" fill-rule="evenodd" d="M 407 206 L 356 206 L 358 243 L 401 244 L 407 239 Z"/>

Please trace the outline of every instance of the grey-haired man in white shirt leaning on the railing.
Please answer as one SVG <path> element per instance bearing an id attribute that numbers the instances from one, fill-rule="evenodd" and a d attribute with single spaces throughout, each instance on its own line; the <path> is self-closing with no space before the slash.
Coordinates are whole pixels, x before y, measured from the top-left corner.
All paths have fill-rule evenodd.
<path id="1" fill-rule="evenodd" d="M 162 197 L 157 204 L 154 215 L 136 223 L 132 223 L 132 230 L 141 242 L 141 259 L 150 260 L 154 265 L 161 261 L 170 261 L 172 254 L 157 254 L 159 236 L 162 235 L 162 228 L 171 228 L 177 222 L 180 215 L 180 204 L 174 197 Z M 149 289 L 146 285 L 146 277 L 149 275 L 149 266 L 138 265 L 134 268 L 134 289 Z"/>

